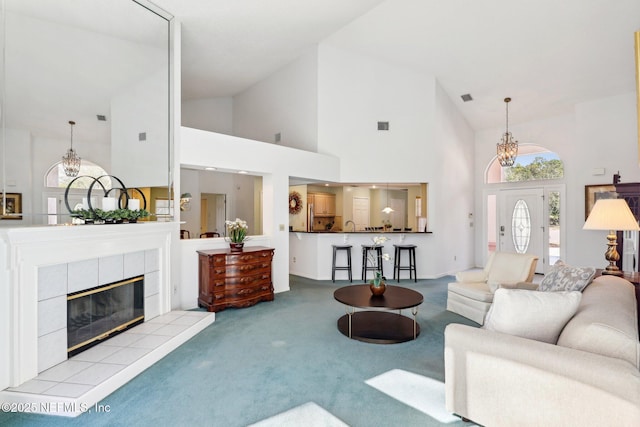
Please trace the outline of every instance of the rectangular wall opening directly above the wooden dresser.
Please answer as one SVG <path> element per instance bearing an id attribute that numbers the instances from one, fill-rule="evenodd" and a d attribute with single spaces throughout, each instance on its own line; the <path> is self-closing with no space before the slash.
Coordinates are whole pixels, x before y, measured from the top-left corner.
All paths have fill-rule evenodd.
<path id="1" fill-rule="evenodd" d="M 180 187 L 189 196 L 180 209 L 180 228 L 190 238 L 206 232 L 224 237 L 225 220 L 236 218 L 247 221 L 248 235 L 262 234 L 261 176 L 182 167 Z"/>

